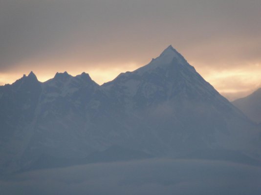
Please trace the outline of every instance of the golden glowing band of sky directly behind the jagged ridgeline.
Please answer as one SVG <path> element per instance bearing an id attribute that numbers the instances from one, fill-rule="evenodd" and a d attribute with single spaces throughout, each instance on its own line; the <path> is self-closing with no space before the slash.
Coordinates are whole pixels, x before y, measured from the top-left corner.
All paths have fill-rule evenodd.
<path id="1" fill-rule="evenodd" d="M 44 63 L 44 62 L 43 62 Z M 35 64 L 35 63 L 34 63 Z M 44 82 L 50 78 L 53 78 L 56 72 L 67 71 L 68 74 L 76 76 L 82 72 L 86 72 L 90 77 L 97 82 L 98 84 L 103 84 L 114 78 L 116 78 L 120 73 L 126 71 L 133 71 L 139 67 L 141 64 L 137 63 L 128 63 L 128 64 L 97 64 L 93 67 L 86 67 L 86 64 L 79 63 L 54 63 L 56 65 L 49 65 L 45 69 L 40 68 L 30 68 L 27 63 L 27 66 L 21 65 L 23 67 L 21 70 L 13 70 L 8 73 L 0 73 L 0 84 L 13 83 L 15 80 L 21 78 L 23 74 L 28 75 L 32 70 L 39 81 Z M 57 64 L 63 64 L 63 66 L 57 66 Z M 74 64 L 74 66 L 71 66 Z M 192 64 L 192 63 L 191 63 Z M 220 94 L 224 95 L 226 98 L 233 100 L 235 98 L 240 98 L 246 96 L 259 88 L 261 86 L 260 80 L 260 67 L 261 64 L 254 64 L 248 66 L 240 66 L 231 69 L 224 70 L 215 70 L 210 69 L 211 67 L 206 68 L 206 66 L 194 66 L 196 71 L 201 74 L 210 84 L 212 84 Z M 25 68 L 24 68 L 25 67 Z M 46 67 L 46 64 L 38 64 L 36 67 Z M 25 72 L 25 73 L 24 73 Z"/>

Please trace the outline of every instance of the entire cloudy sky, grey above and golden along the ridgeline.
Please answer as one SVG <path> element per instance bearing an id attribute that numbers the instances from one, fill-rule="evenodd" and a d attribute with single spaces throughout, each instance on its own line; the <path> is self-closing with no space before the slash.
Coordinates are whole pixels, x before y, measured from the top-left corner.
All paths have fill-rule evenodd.
<path id="1" fill-rule="evenodd" d="M 230 100 L 261 87 L 260 0 L 1 0 L 0 85 L 33 71 L 99 84 L 169 45 Z"/>

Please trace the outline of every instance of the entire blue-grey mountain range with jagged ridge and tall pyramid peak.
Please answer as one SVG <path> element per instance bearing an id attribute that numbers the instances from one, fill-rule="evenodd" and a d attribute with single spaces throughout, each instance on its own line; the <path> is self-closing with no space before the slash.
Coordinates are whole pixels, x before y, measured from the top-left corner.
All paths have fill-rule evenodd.
<path id="1" fill-rule="evenodd" d="M 106 161 L 110 153 L 102 151 L 113 145 L 134 156 L 212 149 L 259 155 L 258 127 L 172 46 L 102 86 L 85 73 L 57 73 L 43 83 L 30 73 L 0 87 L 0 110 L 2 171 L 38 167 L 43 156 L 81 161 L 106 154 Z"/>

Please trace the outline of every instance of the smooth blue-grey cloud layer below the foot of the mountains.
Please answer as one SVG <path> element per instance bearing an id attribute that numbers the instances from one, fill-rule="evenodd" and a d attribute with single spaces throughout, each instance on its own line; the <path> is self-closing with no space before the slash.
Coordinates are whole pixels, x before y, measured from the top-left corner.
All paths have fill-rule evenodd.
<path id="1" fill-rule="evenodd" d="M 260 195 L 260 167 L 152 159 L 27 172 L 0 180 L 12 195 Z"/>

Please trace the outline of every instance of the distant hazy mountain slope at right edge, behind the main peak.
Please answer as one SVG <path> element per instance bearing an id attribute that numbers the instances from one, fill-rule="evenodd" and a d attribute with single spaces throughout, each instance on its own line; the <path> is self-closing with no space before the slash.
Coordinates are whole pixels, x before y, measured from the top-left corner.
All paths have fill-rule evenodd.
<path id="1" fill-rule="evenodd" d="M 251 120 L 261 123 L 261 88 L 245 98 L 232 102 Z"/>

